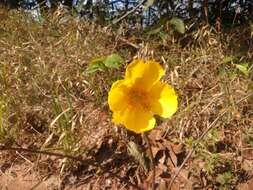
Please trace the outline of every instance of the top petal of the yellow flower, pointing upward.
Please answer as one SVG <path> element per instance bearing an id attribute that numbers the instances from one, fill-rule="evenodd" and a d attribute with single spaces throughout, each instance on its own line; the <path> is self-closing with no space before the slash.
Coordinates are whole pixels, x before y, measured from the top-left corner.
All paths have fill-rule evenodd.
<path id="1" fill-rule="evenodd" d="M 125 78 L 138 83 L 140 88 L 148 90 L 164 74 L 165 71 L 158 62 L 134 60 L 127 66 Z"/>

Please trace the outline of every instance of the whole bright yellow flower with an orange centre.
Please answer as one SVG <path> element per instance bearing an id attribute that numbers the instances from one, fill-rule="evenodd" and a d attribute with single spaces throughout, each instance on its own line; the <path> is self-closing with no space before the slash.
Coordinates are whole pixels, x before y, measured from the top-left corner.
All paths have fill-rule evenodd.
<path id="1" fill-rule="evenodd" d="M 178 101 L 174 89 L 159 81 L 164 74 L 164 69 L 155 61 L 131 62 L 126 68 L 125 79 L 113 83 L 109 91 L 113 122 L 142 133 L 154 128 L 155 114 L 171 117 Z"/>

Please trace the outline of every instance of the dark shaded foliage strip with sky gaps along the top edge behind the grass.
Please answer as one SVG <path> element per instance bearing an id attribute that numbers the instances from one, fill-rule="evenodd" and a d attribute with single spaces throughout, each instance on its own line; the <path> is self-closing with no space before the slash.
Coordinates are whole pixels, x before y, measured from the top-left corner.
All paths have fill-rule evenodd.
<path id="1" fill-rule="evenodd" d="M 252 22 L 253 2 L 251 0 L 5 0 L 10 8 L 21 6 L 26 9 L 40 7 L 43 11 L 48 8 L 64 6 L 77 13 L 79 17 L 93 19 L 100 24 L 106 24 L 134 9 L 127 17 L 133 27 L 150 26 L 163 23 L 164 19 L 179 17 L 187 22 L 199 23 L 204 21 L 223 26 L 234 26 Z"/>

